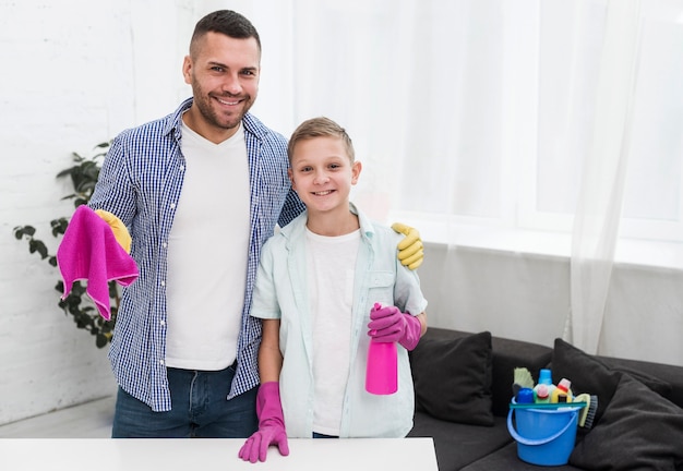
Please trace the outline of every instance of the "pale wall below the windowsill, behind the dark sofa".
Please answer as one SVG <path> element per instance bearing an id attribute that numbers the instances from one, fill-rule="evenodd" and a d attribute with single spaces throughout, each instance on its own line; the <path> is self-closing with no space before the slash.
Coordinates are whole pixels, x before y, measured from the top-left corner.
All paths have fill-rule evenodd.
<path id="1" fill-rule="evenodd" d="M 419 269 L 432 326 L 552 347 L 570 310 L 570 261 L 426 244 Z M 683 271 L 616 264 L 599 354 L 683 366 Z"/>

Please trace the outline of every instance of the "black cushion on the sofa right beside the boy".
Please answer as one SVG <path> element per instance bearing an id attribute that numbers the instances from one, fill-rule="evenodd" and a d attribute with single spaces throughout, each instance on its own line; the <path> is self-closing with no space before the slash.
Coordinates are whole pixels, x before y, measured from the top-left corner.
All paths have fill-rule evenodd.
<path id="1" fill-rule="evenodd" d="M 493 425 L 491 333 L 453 339 L 428 330 L 410 364 L 418 411 L 450 422 Z"/>

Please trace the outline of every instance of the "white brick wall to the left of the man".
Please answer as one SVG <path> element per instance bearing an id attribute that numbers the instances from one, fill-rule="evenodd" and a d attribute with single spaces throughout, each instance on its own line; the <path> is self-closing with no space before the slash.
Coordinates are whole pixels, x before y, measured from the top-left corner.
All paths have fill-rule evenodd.
<path id="1" fill-rule="evenodd" d="M 0 0 L 0 424 L 116 391 L 107 349 L 57 306 L 58 269 L 12 229 L 35 226 L 55 253 L 71 153 L 189 96 L 180 68 L 204 3 Z"/>

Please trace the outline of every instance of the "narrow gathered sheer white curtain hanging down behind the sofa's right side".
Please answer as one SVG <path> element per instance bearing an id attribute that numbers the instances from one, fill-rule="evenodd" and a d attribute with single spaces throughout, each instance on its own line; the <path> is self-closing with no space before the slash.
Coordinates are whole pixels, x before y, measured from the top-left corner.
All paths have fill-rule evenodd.
<path id="1" fill-rule="evenodd" d="M 577 3 L 579 19 L 586 13 L 583 7 Z M 610 1 L 598 48 L 592 125 L 583 159 L 572 238 L 572 329 L 565 337 L 589 353 L 598 351 L 621 222 L 632 141 L 639 20 L 638 0 Z"/>

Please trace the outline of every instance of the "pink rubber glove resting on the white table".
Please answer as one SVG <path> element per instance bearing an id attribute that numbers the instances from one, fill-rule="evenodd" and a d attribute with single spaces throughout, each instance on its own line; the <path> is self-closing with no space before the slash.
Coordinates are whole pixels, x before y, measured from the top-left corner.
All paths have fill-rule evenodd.
<path id="1" fill-rule="evenodd" d="M 271 445 L 277 445 L 281 456 L 289 455 L 278 382 L 263 383 L 259 388 L 256 416 L 259 416 L 259 431 L 244 442 L 239 457 L 252 463 L 265 461 Z"/>

